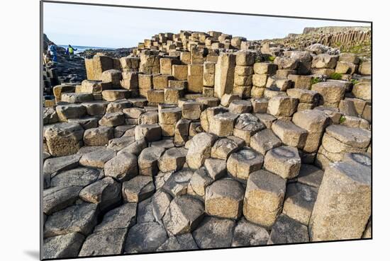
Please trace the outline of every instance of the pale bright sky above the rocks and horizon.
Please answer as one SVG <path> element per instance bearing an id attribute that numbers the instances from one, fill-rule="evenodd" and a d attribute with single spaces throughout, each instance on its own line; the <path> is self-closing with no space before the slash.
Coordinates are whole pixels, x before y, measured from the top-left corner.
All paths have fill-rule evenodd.
<path id="1" fill-rule="evenodd" d="M 369 23 L 150 10 L 76 4 L 43 4 L 43 33 L 57 45 L 135 47 L 157 33 L 210 30 L 247 40 L 285 37 L 306 27 L 369 26 Z"/>

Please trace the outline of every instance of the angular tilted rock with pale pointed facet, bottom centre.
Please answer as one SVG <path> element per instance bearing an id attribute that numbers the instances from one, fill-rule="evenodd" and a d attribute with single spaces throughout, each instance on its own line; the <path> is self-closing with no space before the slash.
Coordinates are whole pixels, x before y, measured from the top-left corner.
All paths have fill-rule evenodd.
<path id="1" fill-rule="evenodd" d="M 162 218 L 169 233 L 180 235 L 191 232 L 204 216 L 204 204 L 194 197 L 175 197 Z"/>

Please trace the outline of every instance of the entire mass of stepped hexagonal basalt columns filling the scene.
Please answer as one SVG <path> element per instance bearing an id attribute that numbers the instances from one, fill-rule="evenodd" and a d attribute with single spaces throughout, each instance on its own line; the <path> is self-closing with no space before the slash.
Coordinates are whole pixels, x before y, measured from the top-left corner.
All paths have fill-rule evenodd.
<path id="1" fill-rule="evenodd" d="M 326 52 L 181 31 L 85 59 L 43 110 L 44 257 L 370 237 L 371 66 Z"/>

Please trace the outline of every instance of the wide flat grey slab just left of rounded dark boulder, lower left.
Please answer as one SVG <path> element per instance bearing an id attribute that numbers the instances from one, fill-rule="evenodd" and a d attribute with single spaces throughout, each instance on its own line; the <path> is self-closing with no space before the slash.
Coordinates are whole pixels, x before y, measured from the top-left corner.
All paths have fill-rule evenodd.
<path id="1" fill-rule="evenodd" d="M 52 177 L 50 187 L 85 187 L 98 180 L 100 175 L 100 171 L 93 168 L 74 168 L 62 171 Z"/>

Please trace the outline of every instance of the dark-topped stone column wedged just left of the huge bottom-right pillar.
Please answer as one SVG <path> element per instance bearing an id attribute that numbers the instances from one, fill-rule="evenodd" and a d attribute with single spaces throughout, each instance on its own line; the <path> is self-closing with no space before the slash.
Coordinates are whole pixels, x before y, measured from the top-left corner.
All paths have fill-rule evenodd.
<path id="1" fill-rule="evenodd" d="M 308 226 L 311 211 L 316 203 L 318 188 L 303 185 L 299 182 L 290 183 L 286 188 L 283 204 L 283 214 Z"/>

